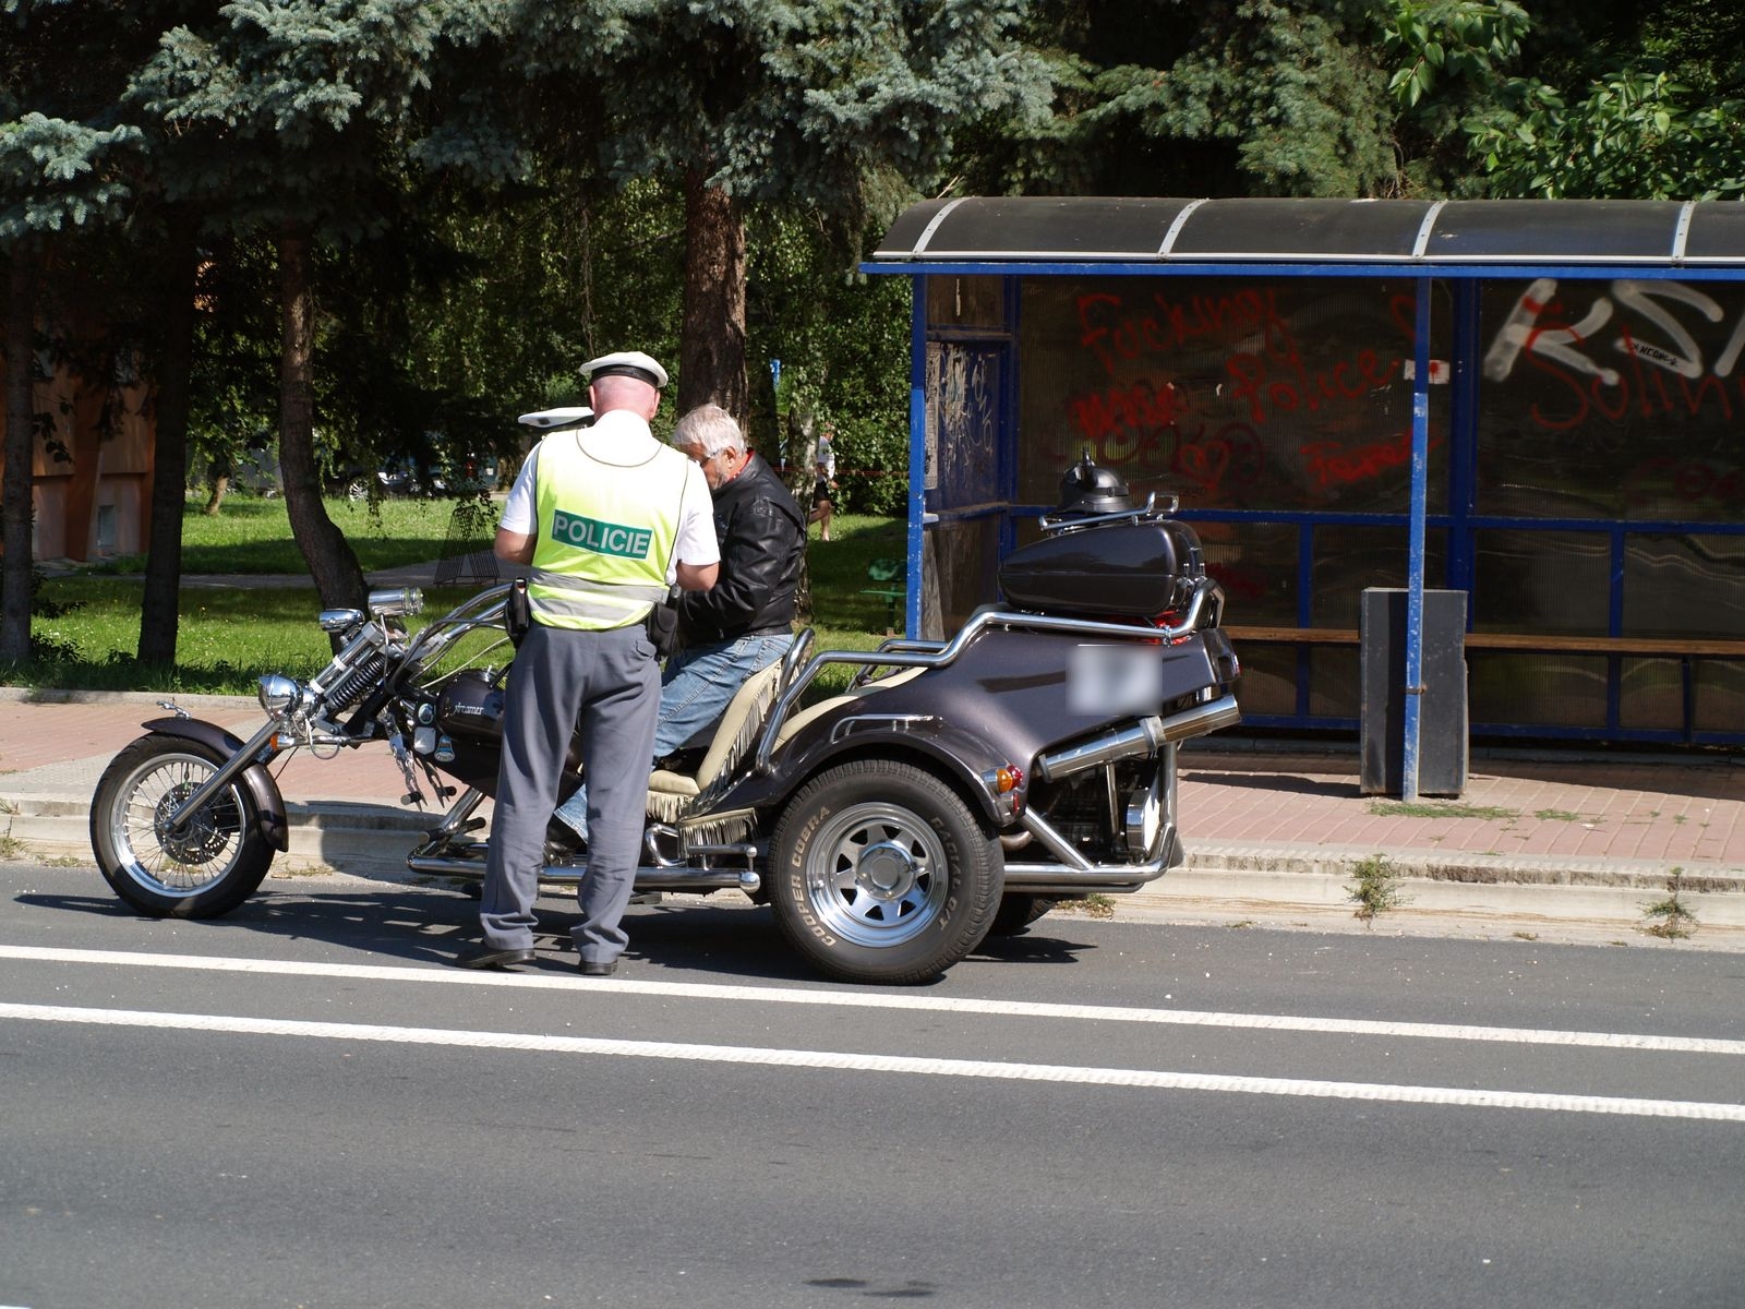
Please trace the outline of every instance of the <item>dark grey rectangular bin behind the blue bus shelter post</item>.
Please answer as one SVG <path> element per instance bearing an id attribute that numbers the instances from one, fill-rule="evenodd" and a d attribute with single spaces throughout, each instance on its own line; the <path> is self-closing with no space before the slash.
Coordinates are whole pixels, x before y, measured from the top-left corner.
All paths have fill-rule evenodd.
<path id="1" fill-rule="evenodd" d="M 1365 796 L 1405 794 L 1406 592 L 1368 586 L 1358 621 L 1359 756 Z M 1466 592 L 1424 592 L 1419 698 L 1420 796 L 1466 791 Z"/>

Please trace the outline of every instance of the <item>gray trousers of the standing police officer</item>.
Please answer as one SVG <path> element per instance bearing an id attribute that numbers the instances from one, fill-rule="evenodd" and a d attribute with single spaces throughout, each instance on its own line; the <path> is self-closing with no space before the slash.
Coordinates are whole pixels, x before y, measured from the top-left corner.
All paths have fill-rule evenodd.
<path id="1" fill-rule="evenodd" d="M 515 654 L 503 712 L 503 763 L 478 922 L 501 949 L 534 944 L 534 899 L 546 820 L 574 724 L 588 773 L 588 871 L 576 888 L 576 948 L 606 963 L 623 953 L 619 927 L 642 846 L 660 665 L 642 625 L 569 632 L 534 623 Z"/>

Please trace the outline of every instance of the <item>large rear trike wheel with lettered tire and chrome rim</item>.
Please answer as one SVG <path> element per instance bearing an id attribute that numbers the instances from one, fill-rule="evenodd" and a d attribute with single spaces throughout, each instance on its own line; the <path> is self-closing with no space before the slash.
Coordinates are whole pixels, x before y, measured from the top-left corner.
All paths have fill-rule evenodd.
<path id="1" fill-rule="evenodd" d="M 839 981 L 930 981 L 1000 908 L 1000 843 L 946 782 L 862 759 L 820 773 L 775 829 L 770 901 L 789 942 Z"/>

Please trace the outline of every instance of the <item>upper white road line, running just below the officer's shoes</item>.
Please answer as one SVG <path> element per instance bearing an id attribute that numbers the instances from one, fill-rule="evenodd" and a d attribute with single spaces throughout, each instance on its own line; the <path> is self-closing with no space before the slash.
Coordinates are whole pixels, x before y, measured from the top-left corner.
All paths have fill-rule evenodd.
<path id="1" fill-rule="evenodd" d="M 1119 1005 L 1068 1005 L 1031 1000 L 974 1000 L 935 995 L 888 995 L 878 991 L 825 991 L 799 986 L 726 986 L 715 983 L 663 983 L 633 979 L 585 979 L 548 972 L 466 972 L 462 969 L 386 967 L 372 963 L 302 963 L 295 960 L 225 958 L 209 955 L 150 955 L 110 949 L 54 949 L 0 946 L 0 958 L 45 963 L 103 963 L 147 969 L 195 969 L 208 972 L 253 972 L 281 977 L 346 977 L 358 981 L 428 983 L 440 986 L 510 986 L 530 990 L 581 990 L 590 993 L 660 995 L 686 1000 L 736 1000 L 754 1004 L 832 1005 L 843 1009 L 899 1009 L 944 1014 L 991 1014 L 1002 1018 L 1063 1018 L 1092 1023 L 1160 1023 L 1174 1026 L 1246 1028 L 1262 1031 L 1319 1031 L 1358 1037 L 1415 1037 L 1426 1040 L 1487 1040 L 1516 1045 L 1584 1045 L 1618 1051 L 1675 1054 L 1745 1054 L 1745 1040 L 1722 1037 L 1658 1037 L 1639 1031 L 1558 1031 L 1541 1028 L 1483 1028 L 1459 1023 L 1387 1023 L 1361 1018 L 1300 1018 L 1293 1014 L 1227 1014 L 1194 1009 L 1124 1009 Z"/>

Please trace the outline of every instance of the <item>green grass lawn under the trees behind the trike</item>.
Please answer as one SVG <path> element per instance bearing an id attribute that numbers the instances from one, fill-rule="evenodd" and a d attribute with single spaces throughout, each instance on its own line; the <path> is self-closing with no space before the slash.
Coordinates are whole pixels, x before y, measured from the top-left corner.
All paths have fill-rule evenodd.
<path id="1" fill-rule="evenodd" d="M 387 501 L 379 522 L 368 506 L 328 501 L 328 513 L 346 527 L 365 572 L 419 564 L 441 555 L 452 503 Z M 389 534 L 391 532 L 391 534 Z M 876 649 L 885 634 L 885 600 L 860 595 L 867 564 L 904 553 L 904 524 L 892 518 L 836 515 L 832 541 L 817 532 L 808 546 L 815 649 Z M 190 503 L 183 531 L 183 576 L 307 574 L 291 541 L 283 501 L 225 501 L 218 520 Z M 188 586 L 181 588 L 174 667 L 141 667 L 140 579 L 127 576 L 141 560 L 119 560 L 87 574 L 44 579 L 40 600 L 56 613 L 31 621 L 38 642 L 52 642 L 61 658 L 0 667 L 10 686 L 253 695 L 262 674 L 309 677 L 328 661 L 328 639 L 316 627 L 321 600 L 309 586 Z M 473 595 L 473 586 L 426 588 L 417 627 Z M 902 616 L 899 613 L 899 625 Z M 846 668 L 831 668 L 818 689 L 839 686 Z"/>

